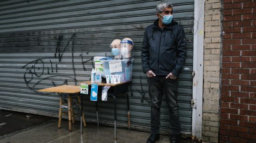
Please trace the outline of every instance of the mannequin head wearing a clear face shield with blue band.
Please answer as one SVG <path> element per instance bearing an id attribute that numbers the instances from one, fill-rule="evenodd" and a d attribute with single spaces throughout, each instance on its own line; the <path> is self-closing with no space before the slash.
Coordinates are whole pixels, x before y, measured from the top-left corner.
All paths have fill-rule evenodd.
<path id="1" fill-rule="evenodd" d="M 121 58 L 132 58 L 133 40 L 130 38 L 122 39 L 121 41 Z"/>

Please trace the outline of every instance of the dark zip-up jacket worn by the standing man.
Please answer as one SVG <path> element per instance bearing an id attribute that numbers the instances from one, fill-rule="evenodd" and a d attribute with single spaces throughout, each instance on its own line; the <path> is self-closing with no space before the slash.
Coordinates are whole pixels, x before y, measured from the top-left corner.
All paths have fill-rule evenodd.
<path id="1" fill-rule="evenodd" d="M 156 75 L 178 76 L 186 60 L 186 39 L 182 26 L 172 21 L 161 29 L 158 20 L 148 26 L 141 49 L 143 72 L 151 70 Z"/>

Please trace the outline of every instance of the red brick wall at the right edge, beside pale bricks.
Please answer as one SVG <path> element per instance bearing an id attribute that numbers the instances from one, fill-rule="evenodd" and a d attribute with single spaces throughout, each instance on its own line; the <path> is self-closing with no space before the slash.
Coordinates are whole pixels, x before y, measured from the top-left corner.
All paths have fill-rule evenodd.
<path id="1" fill-rule="evenodd" d="M 220 143 L 256 143 L 256 1 L 223 0 Z"/>

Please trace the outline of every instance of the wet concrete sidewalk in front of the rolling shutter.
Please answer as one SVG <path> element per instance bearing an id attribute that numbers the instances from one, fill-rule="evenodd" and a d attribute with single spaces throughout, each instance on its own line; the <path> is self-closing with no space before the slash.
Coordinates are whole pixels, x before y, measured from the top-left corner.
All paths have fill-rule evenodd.
<path id="1" fill-rule="evenodd" d="M 80 134 L 80 122 L 73 125 L 73 131 L 68 131 L 68 122 L 63 119 L 61 129 L 58 130 L 58 122 L 53 119 L 34 129 L 20 132 L 16 135 L 1 139 L 0 143 L 146 143 L 150 133 L 117 128 L 117 140 L 114 140 L 114 127 L 99 127 L 94 123 L 88 123 Z M 169 143 L 169 136 L 161 136 L 157 143 Z M 193 143 L 190 140 L 182 140 L 181 143 Z"/>

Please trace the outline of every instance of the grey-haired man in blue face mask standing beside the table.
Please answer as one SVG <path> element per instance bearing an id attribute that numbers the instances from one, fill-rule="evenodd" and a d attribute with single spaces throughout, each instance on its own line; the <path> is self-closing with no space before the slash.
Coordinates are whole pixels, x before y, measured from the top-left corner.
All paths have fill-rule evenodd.
<path id="1" fill-rule="evenodd" d="M 141 48 L 143 72 L 148 77 L 151 98 L 151 135 L 147 143 L 155 143 L 160 134 L 160 108 L 163 91 L 169 108 L 171 143 L 179 143 L 180 121 L 177 100 L 178 75 L 186 59 L 186 39 L 182 26 L 173 21 L 173 6 L 170 1 L 161 1 L 156 6 L 154 24 L 144 33 Z"/>

